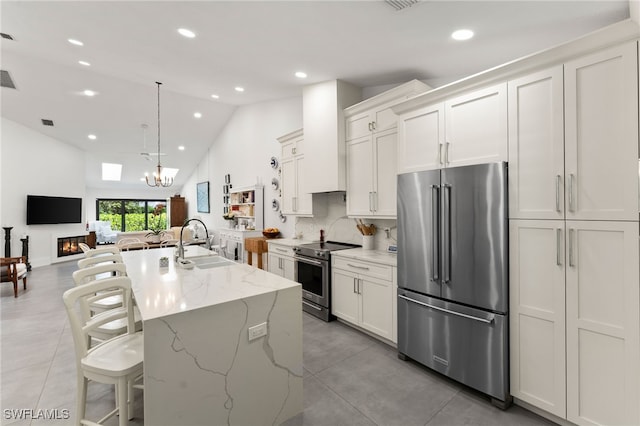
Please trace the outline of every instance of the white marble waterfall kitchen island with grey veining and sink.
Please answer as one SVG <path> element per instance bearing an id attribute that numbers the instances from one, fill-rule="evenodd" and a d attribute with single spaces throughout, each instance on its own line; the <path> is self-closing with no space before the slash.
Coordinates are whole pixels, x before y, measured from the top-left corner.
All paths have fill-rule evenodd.
<path id="1" fill-rule="evenodd" d="M 183 269 L 173 252 L 123 253 L 143 320 L 145 424 L 271 425 L 302 412 L 300 285 L 217 266 L 197 246 L 185 257 L 204 263 Z"/>

